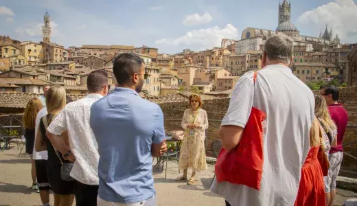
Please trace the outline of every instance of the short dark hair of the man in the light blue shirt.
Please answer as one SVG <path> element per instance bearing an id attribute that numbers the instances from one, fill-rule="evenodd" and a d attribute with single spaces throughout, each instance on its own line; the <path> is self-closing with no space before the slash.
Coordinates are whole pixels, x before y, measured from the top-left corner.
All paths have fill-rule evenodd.
<path id="1" fill-rule="evenodd" d="M 118 84 L 126 84 L 134 73 L 139 73 L 143 59 L 137 54 L 119 54 L 113 60 L 113 73 Z"/>

